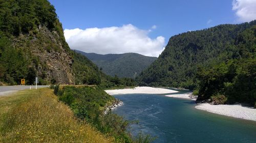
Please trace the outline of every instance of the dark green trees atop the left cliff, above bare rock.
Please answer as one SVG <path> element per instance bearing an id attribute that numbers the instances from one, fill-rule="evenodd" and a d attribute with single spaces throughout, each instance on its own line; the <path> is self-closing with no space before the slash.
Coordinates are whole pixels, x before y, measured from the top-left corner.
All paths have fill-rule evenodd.
<path id="1" fill-rule="evenodd" d="M 56 26 L 54 7 L 46 0 L 0 1 L 0 31 L 10 35 L 29 33 L 39 25 Z"/>

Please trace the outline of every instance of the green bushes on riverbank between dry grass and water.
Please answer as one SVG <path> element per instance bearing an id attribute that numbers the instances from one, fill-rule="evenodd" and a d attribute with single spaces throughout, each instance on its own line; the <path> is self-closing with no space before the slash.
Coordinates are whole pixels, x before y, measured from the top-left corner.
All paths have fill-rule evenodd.
<path id="1" fill-rule="evenodd" d="M 121 117 L 108 113 L 103 115 L 104 107 L 115 101 L 98 87 L 63 87 L 56 93 L 59 100 L 68 104 L 75 116 L 86 120 L 103 133 L 108 133 L 118 140 L 126 140 L 128 123 Z M 129 139 L 128 139 L 129 140 Z"/>

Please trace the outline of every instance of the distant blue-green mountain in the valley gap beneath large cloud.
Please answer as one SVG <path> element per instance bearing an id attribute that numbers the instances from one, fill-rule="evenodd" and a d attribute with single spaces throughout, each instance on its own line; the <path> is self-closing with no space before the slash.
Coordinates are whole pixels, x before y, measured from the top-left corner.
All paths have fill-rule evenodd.
<path id="1" fill-rule="evenodd" d="M 96 54 L 75 50 L 93 61 L 102 71 L 111 76 L 136 77 L 157 58 L 138 53 Z"/>

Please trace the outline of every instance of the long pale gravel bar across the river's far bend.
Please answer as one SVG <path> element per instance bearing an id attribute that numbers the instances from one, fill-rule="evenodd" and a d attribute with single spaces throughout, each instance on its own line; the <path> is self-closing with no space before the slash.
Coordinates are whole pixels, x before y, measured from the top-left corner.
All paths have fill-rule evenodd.
<path id="1" fill-rule="evenodd" d="M 177 93 L 178 91 L 161 89 L 161 88 L 151 88 L 151 87 L 136 87 L 134 89 L 105 90 L 105 92 L 110 95 L 117 95 L 117 94 L 168 94 L 168 93 Z"/>

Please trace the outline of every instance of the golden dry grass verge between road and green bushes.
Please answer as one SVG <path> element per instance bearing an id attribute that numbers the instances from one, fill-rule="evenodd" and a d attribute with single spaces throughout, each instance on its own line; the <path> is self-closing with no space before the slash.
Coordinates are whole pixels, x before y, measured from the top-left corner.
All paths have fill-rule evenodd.
<path id="1" fill-rule="evenodd" d="M 0 97 L 0 142 L 114 142 L 78 121 L 50 89 Z"/>

